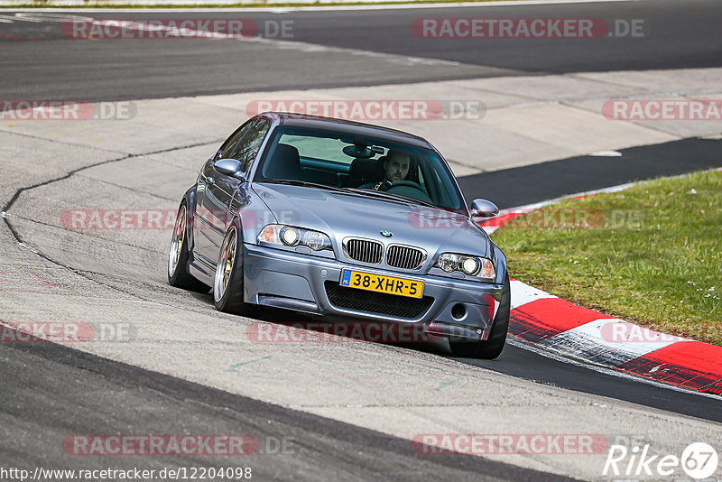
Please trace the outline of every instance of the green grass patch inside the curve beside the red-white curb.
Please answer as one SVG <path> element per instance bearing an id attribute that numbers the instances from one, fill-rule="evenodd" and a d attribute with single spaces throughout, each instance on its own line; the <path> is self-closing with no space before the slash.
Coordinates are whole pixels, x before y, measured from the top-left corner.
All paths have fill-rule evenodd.
<path id="1" fill-rule="evenodd" d="M 722 172 L 647 181 L 541 211 L 492 235 L 512 277 L 616 318 L 722 345 Z M 577 226 L 534 222 L 559 212 L 572 225 L 576 216 Z"/>

